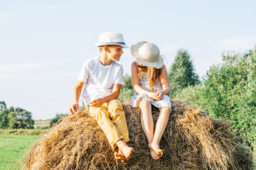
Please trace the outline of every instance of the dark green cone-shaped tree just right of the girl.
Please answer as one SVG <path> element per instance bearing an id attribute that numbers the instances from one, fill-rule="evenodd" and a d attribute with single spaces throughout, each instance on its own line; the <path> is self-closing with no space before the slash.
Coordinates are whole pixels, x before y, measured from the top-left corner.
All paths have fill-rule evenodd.
<path id="1" fill-rule="evenodd" d="M 200 83 L 187 50 L 178 50 L 174 63 L 171 64 L 169 69 L 168 77 L 171 86 L 170 96 L 172 98 L 176 96 L 177 91 Z"/>

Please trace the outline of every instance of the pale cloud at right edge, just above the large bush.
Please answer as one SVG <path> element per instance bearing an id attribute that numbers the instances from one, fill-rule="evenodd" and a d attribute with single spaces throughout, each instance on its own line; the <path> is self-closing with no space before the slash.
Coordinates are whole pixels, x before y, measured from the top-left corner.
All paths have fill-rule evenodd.
<path id="1" fill-rule="evenodd" d="M 235 37 L 221 40 L 220 45 L 225 47 L 225 50 L 249 50 L 256 45 L 256 36 Z"/>

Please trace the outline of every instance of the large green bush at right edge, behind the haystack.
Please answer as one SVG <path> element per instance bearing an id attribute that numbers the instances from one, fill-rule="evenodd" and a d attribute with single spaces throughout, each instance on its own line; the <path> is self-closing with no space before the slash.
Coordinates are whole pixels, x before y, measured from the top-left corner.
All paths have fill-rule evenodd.
<path id="1" fill-rule="evenodd" d="M 203 85 L 178 91 L 176 98 L 206 108 L 206 113 L 229 120 L 244 145 L 256 148 L 256 47 L 246 53 L 227 52 L 223 63 L 210 67 Z"/>

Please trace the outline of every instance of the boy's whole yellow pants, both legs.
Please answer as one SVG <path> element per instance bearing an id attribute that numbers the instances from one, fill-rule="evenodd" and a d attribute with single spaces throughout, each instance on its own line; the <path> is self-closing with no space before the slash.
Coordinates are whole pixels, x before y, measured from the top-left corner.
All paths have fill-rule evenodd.
<path id="1" fill-rule="evenodd" d="M 100 107 L 87 106 L 87 112 L 97 120 L 97 123 L 105 133 L 112 149 L 116 147 L 118 140 L 129 141 L 127 121 L 121 101 L 115 99 L 103 103 Z"/>

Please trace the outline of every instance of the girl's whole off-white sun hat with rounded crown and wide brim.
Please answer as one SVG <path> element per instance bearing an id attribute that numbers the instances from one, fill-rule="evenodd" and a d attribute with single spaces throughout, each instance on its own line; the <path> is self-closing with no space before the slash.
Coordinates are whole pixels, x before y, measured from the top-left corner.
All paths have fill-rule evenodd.
<path id="1" fill-rule="evenodd" d="M 164 66 L 164 59 L 160 55 L 159 47 L 151 42 L 138 42 L 131 46 L 132 56 L 136 61 L 147 67 L 155 67 L 160 69 Z"/>

